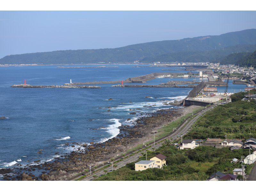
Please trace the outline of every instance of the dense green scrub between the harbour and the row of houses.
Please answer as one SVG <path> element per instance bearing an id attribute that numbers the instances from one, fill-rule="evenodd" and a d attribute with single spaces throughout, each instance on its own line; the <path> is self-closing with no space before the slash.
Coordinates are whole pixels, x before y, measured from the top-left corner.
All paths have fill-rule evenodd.
<path id="1" fill-rule="evenodd" d="M 240 96 L 241 93 L 235 96 Z M 236 101 L 220 105 L 199 118 L 184 139 L 256 137 L 256 102 Z"/>

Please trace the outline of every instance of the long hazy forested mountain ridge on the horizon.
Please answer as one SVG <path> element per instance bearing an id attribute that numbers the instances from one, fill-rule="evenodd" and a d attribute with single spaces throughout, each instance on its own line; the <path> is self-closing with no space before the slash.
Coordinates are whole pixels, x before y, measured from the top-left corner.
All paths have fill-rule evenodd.
<path id="1" fill-rule="evenodd" d="M 0 64 L 124 63 L 135 60 L 142 62 L 214 61 L 227 56 L 232 51 L 246 51 L 250 47 L 256 50 L 255 44 L 256 29 L 247 29 L 215 36 L 147 42 L 114 49 L 58 50 L 10 55 L 1 58 Z"/>

